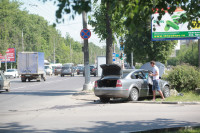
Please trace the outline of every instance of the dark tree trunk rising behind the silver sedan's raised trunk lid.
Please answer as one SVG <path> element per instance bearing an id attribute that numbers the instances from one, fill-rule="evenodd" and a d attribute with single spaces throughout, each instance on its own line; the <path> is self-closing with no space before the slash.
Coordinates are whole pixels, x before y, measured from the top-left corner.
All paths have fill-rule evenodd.
<path id="1" fill-rule="evenodd" d="M 106 2 L 107 7 L 106 7 L 106 32 L 107 32 L 107 38 L 106 38 L 106 64 L 112 64 L 112 53 L 113 53 L 113 48 L 112 48 L 112 29 L 110 25 L 110 16 L 109 16 L 109 9 L 110 9 L 110 2 Z"/>

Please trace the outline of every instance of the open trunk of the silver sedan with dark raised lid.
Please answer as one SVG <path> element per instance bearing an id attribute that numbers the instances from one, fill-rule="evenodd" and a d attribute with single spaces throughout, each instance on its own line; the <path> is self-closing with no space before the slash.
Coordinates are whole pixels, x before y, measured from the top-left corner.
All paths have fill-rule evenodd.
<path id="1" fill-rule="evenodd" d="M 103 64 L 101 79 L 97 81 L 98 87 L 116 87 L 117 80 L 121 78 L 121 67 L 116 64 Z"/>

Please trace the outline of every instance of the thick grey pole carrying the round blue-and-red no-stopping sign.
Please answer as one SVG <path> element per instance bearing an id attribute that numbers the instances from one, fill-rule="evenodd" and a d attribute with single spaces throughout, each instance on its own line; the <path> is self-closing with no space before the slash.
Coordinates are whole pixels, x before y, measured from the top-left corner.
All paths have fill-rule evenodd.
<path id="1" fill-rule="evenodd" d="M 87 15 L 86 12 L 82 12 L 83 17 L 83 29 L 87 29 Z M 85 66 L 85 84 L 83 85 L 83 90 L 90 89 L 90 66 L 89 66 L 89 48 L 88 39 L 84 39 L 84 66 Z"/>

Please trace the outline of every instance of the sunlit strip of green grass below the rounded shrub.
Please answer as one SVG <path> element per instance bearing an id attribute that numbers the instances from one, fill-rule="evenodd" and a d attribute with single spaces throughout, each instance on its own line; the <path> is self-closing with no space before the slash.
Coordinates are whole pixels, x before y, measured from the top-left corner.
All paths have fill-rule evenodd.
<path id="1" fill-rule="evenodd" d="M 170 96 L 165 99 L 167 102 L 200 102 L 200 95 L 194 92 L 183 92 L 183 96 Z M 157 98 L 156 101 L 161 101 Z"/>

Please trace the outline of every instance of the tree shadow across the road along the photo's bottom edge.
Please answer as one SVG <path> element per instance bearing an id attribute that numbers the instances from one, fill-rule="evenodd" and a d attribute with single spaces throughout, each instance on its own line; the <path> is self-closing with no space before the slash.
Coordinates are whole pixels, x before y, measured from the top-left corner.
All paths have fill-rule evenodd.
<path id="1" fill-rule="evenodd" d="M 63 118 L 65 119 L 65 118 Z M 118 133 L 118 132 L 139 132 L 152 129 L 161 128 L 172 128 L 172 127 L 184 127 L 184 126 L 199 126 L 199 123 L 187 122 L 187 121 L 176 121 L 173 119 L 163 119 L 158 118 L 155 120 L 141 120 L 136 121 L 119 121 L 116 123 L 111 123 L 108 121 L 90 121 L 96 125 L 95 127 L 87 128 L 77 125 L 76 128 L 65 128 L 65 129 L 42 129 L 39 130 L 30 125 L 20 125 L 19 123 L 1 123 L 0 133 L 27 133 L 27 132 L 53 132 L 53 133 L 68 133 L 68 132 L 104 132 L 104 133 Z M 44 123 L 43 123 L 44 124 Z M 48 123 L 46 123 L 48 125 Z M 59 125 L 59 123 L 58 123 Z M 80 126 L 80 127 L 78 127 Z M 28 128 L 28 129 L 27 129 Z"/>

